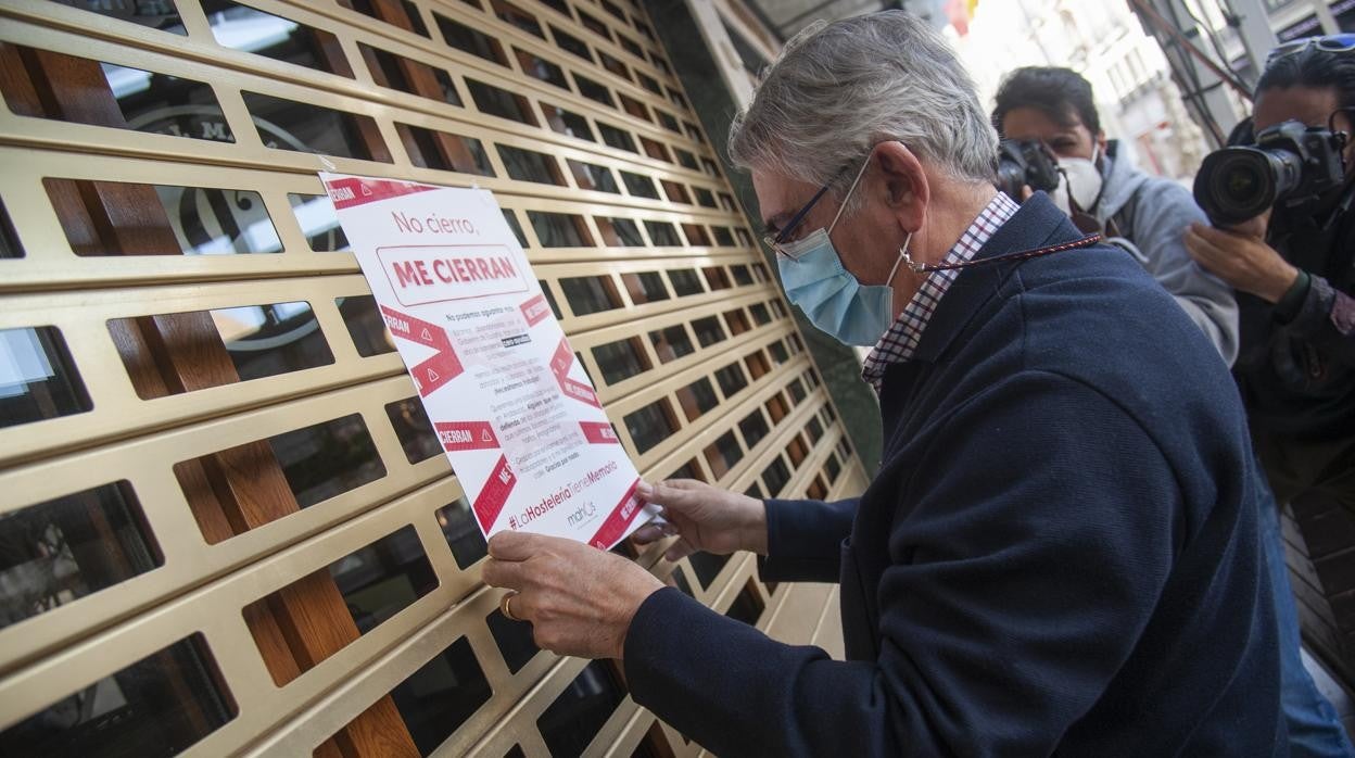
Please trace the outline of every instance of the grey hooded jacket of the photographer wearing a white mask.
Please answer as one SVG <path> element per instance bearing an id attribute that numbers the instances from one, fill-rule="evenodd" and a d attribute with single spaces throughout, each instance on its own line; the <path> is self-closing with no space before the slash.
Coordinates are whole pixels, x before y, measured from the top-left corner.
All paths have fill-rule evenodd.
<path id="1" fill-rule="evenodd" d="M 1118 152 L 1118 141 L 1111 140 L 1102 164 L 1104 184 L 1092 216 L 1103 225 L 1114 220 L 1122 236 L 1107 241 L 1138 259 L 1232 366 L 1237 358 L 1237 302 L 1233 290 L 1205 273 L 1186 252 L 1182 239 L 1186 226 L 1191 222 L 1209 224 L 1209 218 L 1195 205 L 1190 190 L 1171 179 L 1138 171 Z"/>

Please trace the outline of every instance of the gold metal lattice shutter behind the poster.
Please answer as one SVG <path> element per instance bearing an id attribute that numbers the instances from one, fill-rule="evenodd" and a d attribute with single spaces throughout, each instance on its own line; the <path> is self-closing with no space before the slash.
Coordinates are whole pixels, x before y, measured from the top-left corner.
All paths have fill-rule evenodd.
<path id="1" fill-rule="evenodd" d="M 638 5 L 0 0 L 0 753 L 699 751 L 503 625 L 314 176 L 493 190 L 644 476 L 859 492 Z M 840 645 L 831 587 L 660 556 Z"/>

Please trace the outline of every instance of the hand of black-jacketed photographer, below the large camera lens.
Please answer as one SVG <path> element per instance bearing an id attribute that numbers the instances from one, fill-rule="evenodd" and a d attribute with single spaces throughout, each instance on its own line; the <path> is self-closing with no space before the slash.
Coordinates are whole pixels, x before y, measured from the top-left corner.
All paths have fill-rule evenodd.
<path id="1" fill-rule="evenodd" d="M 1186 250 L 1205 270 L 1234 289 L 1274 304 L 1298 278 L 1298 268 L 1266 244 L 1266 224 L 1259 221 L 1253 218 L 1232 229 L 1191 224 L 1186 229 Z"/>

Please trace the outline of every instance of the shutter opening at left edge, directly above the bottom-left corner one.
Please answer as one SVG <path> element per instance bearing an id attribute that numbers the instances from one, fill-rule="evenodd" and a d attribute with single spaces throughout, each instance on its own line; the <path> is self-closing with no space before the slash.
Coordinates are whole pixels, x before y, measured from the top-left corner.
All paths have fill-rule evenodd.
<path id="1" fill-rule="evenodd" d="M 0 515 L 0 629 L 163 564 L 127 481 L 9 511 Z"/>

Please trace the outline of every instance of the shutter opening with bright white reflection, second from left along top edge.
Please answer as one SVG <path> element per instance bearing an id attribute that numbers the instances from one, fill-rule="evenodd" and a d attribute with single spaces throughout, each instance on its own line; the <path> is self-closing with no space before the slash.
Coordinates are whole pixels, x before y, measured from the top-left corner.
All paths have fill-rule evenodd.
<path id="1" fill-rule="evenodd" d="M 222 47 L 352 79 L 339 38 L 230 0 L 201 0 L 211 35 Z"/>

